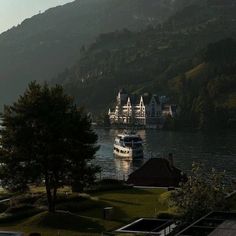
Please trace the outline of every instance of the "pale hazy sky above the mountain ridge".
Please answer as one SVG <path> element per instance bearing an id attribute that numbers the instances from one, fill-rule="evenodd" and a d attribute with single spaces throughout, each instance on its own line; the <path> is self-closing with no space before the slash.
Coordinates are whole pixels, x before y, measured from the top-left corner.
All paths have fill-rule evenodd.
<path id="1" fill-rule="evenodd" d="M 0 33 L 39 11 L 68 2 L 73 0 L 0 0 Z"/>

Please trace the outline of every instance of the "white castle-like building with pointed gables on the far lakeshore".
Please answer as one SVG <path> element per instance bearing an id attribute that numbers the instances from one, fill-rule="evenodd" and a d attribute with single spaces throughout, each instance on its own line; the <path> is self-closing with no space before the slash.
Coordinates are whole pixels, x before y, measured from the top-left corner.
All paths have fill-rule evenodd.
<path id="1" fill-rule="evenodd" d="M 175 116 L 176 106 L 167 105 L 165 96 L 129 95 L 121 89 L 114 110 L 109 109 L 111 124 L 157 125 L 165 116 Z"/>

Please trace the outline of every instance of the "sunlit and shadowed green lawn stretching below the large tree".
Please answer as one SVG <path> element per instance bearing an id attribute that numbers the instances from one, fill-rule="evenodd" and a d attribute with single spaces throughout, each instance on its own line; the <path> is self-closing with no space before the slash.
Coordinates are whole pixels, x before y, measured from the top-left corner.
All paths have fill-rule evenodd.
<path id="1" fill-rule="evenodd" d="M 0 224 L 0 230 L 40 232 L 43 236 L 100 235 L 136 218 L 167 211 L 167 203 L 161 200 L 165 192 L 163 189 L 125 189 L 94 193 L 83 201 L 59 204 L 58 208 L 65 212 L 42 212 L 12 224 Z M 103 220 L 104 207 L 113 207 L 111 220 Z M 73 214 L 66 212 L 68 208 Z"/>

